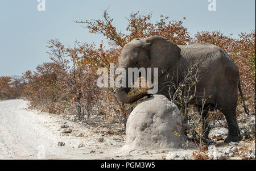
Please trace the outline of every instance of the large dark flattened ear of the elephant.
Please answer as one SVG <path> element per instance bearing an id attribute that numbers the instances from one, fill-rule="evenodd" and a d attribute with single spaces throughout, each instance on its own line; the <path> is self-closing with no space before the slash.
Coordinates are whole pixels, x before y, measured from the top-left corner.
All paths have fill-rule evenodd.
<path id="1" fill-rule="evenodd" d="M 180 48 L 170 39 L 162 36 L 151 36 L 144 39 L 150 51 L 150 66 L 168 70 L 180 57 Z"/>

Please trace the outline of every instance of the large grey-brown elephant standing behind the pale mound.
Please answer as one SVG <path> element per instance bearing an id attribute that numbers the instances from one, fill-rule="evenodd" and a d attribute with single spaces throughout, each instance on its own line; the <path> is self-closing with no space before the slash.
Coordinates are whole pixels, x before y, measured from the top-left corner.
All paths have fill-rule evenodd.
<path id="1" fill-rule="evenodd" d="M 152 70 L 159 68 L 157 94 L 163 94 L 169 99 L 169 88 L 166 82 L 170 81 L 170 77 L 167 78 L 167 74 L 173 76 L 172 82 L 177 86 L 183 80 L 189 66 L 195 63 L 199 66 L 200 72 L 198 73 L 199 82 L 196 84 L 196 98 L 191 101 L 191 104 L 201 111 L 202 103 L 198 97 L 211 96 L 204 106 L 203 118 L 207 119 L 209 110 L 220 110 L 225 115 L 229 130 L 224 142 L 240 141 L 242 137 L 236 120 L 238 89 L 242 95 L 240 74 L 237 65 L 221 48 L 208 43 L 176 45 L 162 36 L 151 36 L 134 39 L 123 47 L 119 56 L 121 68 L 150 67 Z M 123 103 L 133 103 L 150 95 L 147 92 L 128 95 L 129 91 L 129 88 L 117 89 L 118 99 Z M 248 112 L 245 103 L 244 107 Z M 204 124 L 203 127 L 207 128 L 208 125 Z M 206 131 L 205 139 L 208 139 L 208 133 L 209 130 Z"/>

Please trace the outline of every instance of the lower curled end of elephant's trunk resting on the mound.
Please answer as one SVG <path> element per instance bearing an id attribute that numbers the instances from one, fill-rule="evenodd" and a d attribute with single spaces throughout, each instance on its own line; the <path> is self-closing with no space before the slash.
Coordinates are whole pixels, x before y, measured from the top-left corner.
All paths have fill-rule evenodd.
<path id="1" fill-rule="evenodd" d="M 118 88 L 116 90 L 117 98 L 122 103 L 133 103 L 145 97 L 146 95 L 149 95 L 146 91 L 135 94 L 135 95 L 128 95 L 129 91 L 130 91 L 130 88 L 123 88 L 123 87 Z"/>

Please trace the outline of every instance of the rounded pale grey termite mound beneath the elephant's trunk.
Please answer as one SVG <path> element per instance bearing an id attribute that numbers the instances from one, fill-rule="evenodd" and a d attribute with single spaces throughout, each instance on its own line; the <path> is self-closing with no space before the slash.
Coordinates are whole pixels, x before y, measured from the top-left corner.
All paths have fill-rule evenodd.
<path id="1" fill-rule="evenodd" d="M 174 103 L 163 95 L 142 101 L 131 112 L 126 124 L 125 151 L 181 147 L 182 116 Z"/>

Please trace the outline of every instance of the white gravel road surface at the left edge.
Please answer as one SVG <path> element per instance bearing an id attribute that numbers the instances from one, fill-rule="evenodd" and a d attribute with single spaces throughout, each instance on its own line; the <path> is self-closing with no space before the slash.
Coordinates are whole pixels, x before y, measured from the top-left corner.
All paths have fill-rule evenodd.
<path id="1" fill-rule="evenodd" d="M 67 149 L 49 131 L 44 115 L 25 110 L 26 101 L 0 101 L 0 159 L 60 159 Z M 61 156 L 61 157 L 60 157 Z"/>

